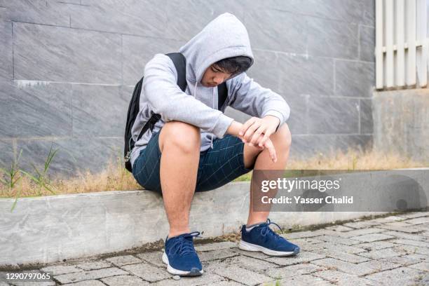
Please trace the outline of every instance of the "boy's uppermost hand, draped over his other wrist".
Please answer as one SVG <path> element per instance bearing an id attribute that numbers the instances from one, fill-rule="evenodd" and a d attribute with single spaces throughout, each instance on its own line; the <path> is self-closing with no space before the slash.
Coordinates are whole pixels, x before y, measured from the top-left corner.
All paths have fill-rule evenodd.
<path id="1" fill-rule="evenodd" d="M 264 118 L 252 117 L 243 124 L 238 135 L 245 140 L 245 143 L 249 143 L 250 146 L 263 147 L 279 124 L 280 119 L 275 116 L 267 115 Z"/>

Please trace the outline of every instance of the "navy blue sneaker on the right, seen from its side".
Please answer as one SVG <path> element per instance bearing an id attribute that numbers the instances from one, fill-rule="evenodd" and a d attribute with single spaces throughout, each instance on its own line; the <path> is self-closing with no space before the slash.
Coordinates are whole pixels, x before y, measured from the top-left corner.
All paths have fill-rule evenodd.
<path id="1" fill-rule="evenodd" d="M 269 225 L 275 224 L 267 219 L 266 222 L 257 226 L 249 227 L 250 231 L 246 230 L 246 225 L 241 227 L 241 241 L 238 247 L 240 250 L 260 251 L 267 255 L 281 257 L 296 255 L 299 253 L 299 246 L 290 243 L 282 236 L 279 236 Z M 275 224 L 278 226 L 278 224 Z M 280 229 L 280 226 L 278 226 Z M 282 229 L 280 229 L 281 231 Z"/>

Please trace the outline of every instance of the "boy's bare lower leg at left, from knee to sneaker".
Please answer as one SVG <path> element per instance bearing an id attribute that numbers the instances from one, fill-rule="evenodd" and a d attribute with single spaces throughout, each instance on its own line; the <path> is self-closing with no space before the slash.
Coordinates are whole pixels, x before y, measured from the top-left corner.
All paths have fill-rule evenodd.
<path id="1" fill-rule="evenodd" d="M 170 232 L 189 233 L 189 210 L 200 160 L 200 129 L 180 121 L 165 123 L 159 135 L 161 189 Z"/>

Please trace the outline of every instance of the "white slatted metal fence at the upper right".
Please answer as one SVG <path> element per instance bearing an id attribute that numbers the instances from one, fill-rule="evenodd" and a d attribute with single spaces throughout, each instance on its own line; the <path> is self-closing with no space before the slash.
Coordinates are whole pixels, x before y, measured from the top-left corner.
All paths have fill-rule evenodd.
<path id="1" fill-rule="evenodd" d="M 374 1 L 376 88 L 426 88 L 429 0 Z"/>

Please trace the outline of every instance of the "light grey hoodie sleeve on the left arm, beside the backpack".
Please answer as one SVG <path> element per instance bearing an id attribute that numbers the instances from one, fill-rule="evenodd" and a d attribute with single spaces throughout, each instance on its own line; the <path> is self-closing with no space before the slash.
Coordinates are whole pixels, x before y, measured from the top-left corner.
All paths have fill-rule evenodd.
<path id="1" fill-rule="evenodd" d="M 170 57 L 157 54 L 144 68 L 142 96 L 163 121 L 182 121 L 224 137 L 233 118 L 207 107 L 177 86 L 177 71 Z"/>

